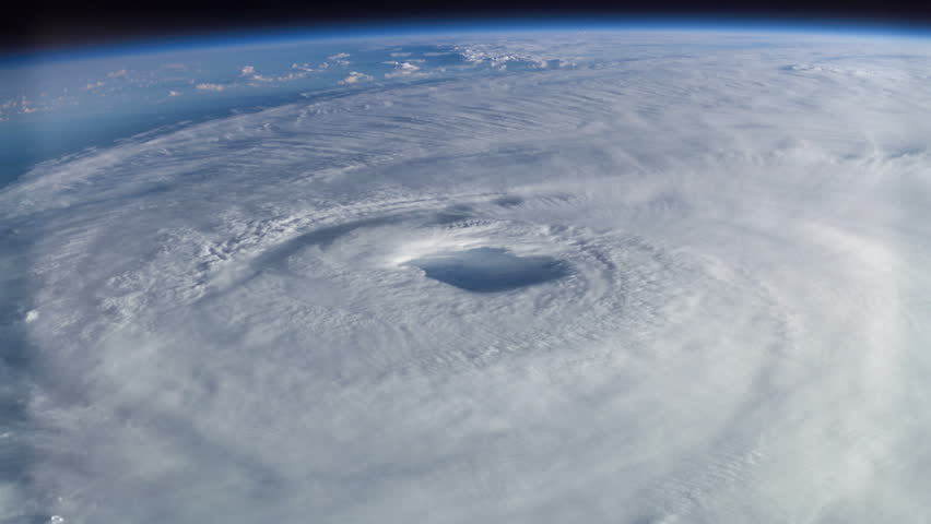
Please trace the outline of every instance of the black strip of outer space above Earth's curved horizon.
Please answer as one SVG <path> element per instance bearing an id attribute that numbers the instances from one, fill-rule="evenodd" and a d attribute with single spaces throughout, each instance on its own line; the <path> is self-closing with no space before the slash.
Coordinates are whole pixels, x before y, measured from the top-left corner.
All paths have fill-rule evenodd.
<path id="1" fill-rule="evenodd" d="M 559 21 L 591 17 L 624 21 L 677 19 L 736 23 L 870 24 L 923 31 L 931 27 L 931 2 L 906 0 L 616 0 L 497 2 L 491 0 L 398 0 L 368 2 L 195 0 L 165 2 L 40 2 L 9 12 L 0 26 L 0 51 L 113 45 L 237 31 L 297 31 L 366 24 L 497 22 L 507 19 Z"/>

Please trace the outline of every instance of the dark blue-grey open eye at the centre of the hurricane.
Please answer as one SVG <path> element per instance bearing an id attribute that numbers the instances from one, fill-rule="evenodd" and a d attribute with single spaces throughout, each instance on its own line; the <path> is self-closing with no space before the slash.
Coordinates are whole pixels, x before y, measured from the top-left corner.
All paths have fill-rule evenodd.
<path id="1" fill-rule="evenodd" d="M 517 257 L 502 248 L 475 248 L 410 261 L 428 278 L 473 293 L 494 293 L 533 286 L 569 274 L 552 257 Z"/>

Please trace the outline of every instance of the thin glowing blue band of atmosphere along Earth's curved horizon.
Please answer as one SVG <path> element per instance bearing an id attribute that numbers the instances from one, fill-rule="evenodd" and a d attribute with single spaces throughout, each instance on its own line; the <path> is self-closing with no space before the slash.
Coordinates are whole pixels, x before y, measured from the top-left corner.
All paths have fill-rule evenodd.
<path id="1" fill-rule="evenodd" d="M 329 21 L 313 24 L 306 21 L 291 24 L 260 24 L 225 28 L 203 28 L 182 33 L 146 36 L 122 36 L 90 43 L 42 44 L 19 49 L 0 48 L 0 63 L 28 60 L 73 60 L 102 56 L 164 52 L 190 48 L 210 49 L 229 45 L 287 45 L 321 40 L 355 40 L 392 36 L 437 36 L 481 33 L 535 32 L 612 32 L 612 31 L 675 31 L 727 33 L 805 33 L 849 36 L 912 37 L 931 36 L 931 22 L 917 19 L 906 22 L 893 19 L 849 19 L 842 16 L 766 14 L 609 14 L 556 13 L 521 16 L 473 15 L 458 20 L 409 17 L 402 21 Z"/>

